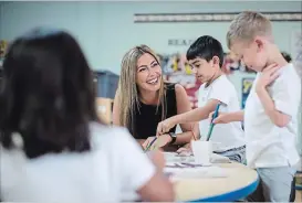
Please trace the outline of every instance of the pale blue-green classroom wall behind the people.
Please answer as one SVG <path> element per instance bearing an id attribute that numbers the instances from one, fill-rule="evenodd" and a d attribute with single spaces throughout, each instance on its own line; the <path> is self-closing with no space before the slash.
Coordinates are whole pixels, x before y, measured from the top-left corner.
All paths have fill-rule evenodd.
<path id="1" fill-rule="evenodd" d="M 190 40 L 209 34 L 220 40 L 227 51 L 225 39 L 229 22 L 136 24 L 134 13 L 301 11 L 301 8 L 302 2 L 296 1 L 0 2 L 0 39 L 12 40 L 39 25 L 65 29 L 80 41 L 92 68 L 119 74 L 124 53 L 136 44 L 145 43 L 158 53 L 169 54 L 185 52 L 188 46 L 169 46 L 168 40 Z M 291 53 L 292 32 L 302 30 L 301 22 L 273 22 L 272 25 L 280 49 Z M 241 79 L 246 76 L 253 75 L 238 73 L 230 76 L 239 95 Z M 302 142 L 301 129 L 299 142 Z"/>

